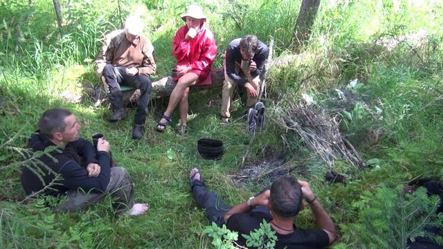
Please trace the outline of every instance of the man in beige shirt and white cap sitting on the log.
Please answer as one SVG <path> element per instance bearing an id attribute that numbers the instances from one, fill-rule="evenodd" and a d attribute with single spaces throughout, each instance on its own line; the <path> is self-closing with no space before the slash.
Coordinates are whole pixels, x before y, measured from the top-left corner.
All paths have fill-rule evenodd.
<path id="1" fill-rule="evenodd" d="M 122 100 L 120 84 L 140 89 L 132 138 L 143 136 L 147 116 L 147 102 L 152 91 L 148 77 L 155 73 L 154 47 L 143 36 L 143 23 L 138 17 L 128 17 L 124 30 L 115 30 L 107 35 L 106 43 L 96 60 L 100 79 L 109 89 L 113 113 L 110 122 L 127 117 Z"/>

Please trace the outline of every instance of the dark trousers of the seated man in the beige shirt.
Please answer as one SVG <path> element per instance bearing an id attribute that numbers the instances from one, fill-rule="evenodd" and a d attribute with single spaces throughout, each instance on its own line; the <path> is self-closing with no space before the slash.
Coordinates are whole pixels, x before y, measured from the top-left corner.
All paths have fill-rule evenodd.
<path id="1" fill-rule="evenodd" d="M 120 84 L 140 89 L 141 95 L 137 100 L 135 123 L 145 124 L 147 102 L 150 100 L 152 91 L 151 80 L 147 75 L 128 75 L 126 68 L 126 66 L 113 66 L 112 64 L 106 64 L 103 68 L 102 76 L 105 77 L 105 81 L 109 86 L 109 100 L 112 109 L 116 110 L 124 107 Z"/>

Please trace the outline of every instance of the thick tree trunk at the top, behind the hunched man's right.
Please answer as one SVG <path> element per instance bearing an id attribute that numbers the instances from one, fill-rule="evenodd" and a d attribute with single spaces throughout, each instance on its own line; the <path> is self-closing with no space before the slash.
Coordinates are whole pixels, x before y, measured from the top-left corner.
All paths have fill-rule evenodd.
<path id="1" fill-rule="evenodd" d="M 311 35 L 311 28 L 316 21 L 320 0 L 303 0 L 298 12 L 296 26 L 293 29 L 296 49 L 300 47 Z"/>

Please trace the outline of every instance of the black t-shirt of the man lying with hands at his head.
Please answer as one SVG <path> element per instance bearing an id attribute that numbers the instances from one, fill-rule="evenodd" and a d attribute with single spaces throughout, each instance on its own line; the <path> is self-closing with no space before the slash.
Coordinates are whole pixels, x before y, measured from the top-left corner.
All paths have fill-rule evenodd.
<path id="1" fill-rule="evenodd" d="M 270 214 L 265 214 L 263 212 L 247 212 L 242 214 L 233 214 L 229 217 L 226 226 L 229 230 L 239 233 L 239 238 L 237 243 L 240 246 L 246 246 L 246 239 L 242 234 L 250 234 L 255 229 L 260 228 L 260 223 L 266 220 L 270 222 L 272 216 Z M 320 229 L 315 230 L 305 230 L 293 226 L 294 232 L 291 234 L 278 234 L 277 242 L 275 243 L 275 248 L 325 248 L 329 246 L 329 237 L 327 233 Z"/>

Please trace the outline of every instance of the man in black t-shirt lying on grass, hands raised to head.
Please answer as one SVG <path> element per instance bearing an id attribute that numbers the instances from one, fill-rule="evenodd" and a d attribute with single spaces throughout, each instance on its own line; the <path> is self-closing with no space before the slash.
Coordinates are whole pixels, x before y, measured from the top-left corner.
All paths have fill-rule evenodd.
<path id="1" fill-rule="evenodd" d="M 276 232 L 275 248 L 324 248 L 336 239 L 334 223 L 305 181 L 292 177 L 275 180 L 266 189 L 248 201 L 230 207 L 214 192 L 208 192 L 201 180 L 199 169 L 192 169 L 189 176 L 192 194 L 197 204 L 206 210 L 209 221 L 226 224 L 229 230 L 239 232 L 237 243 L 245 246 L 241 234 L 250 234 L 260 228 L 263 219 L 271 223 Z M 294 223 L 298 212 L 305 208 L 303 199 L 309 203 L 320 229 L 305 230 Z"/>

